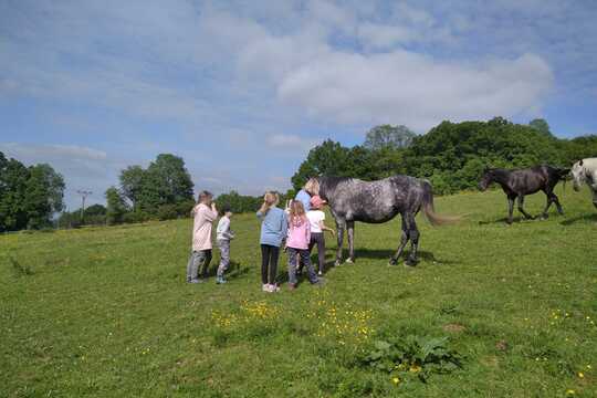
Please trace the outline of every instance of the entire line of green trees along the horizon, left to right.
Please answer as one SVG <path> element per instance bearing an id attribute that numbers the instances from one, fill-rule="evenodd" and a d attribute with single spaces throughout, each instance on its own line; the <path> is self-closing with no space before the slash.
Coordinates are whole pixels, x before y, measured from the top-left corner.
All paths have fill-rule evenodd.
<path id="1" fill-rule="evenodd" d="M 475 189 L 485 167 L 528 167 L 537 164 L 569 167 L 577 159 L 597 156 L 597 136 L 555 137 L 544 119 L 527 125 L 502 117 L 488 122 L 442 122 L 425 135 L 406 126 L 371 128 L 362 145 L 325 140 L 308 153 L 292 176 L 294 197 L 313 176 L 356 177 L 365 180 L 396 174 L 428 178 L 437 193 Z M 64 209 L 64 179 L 50 165 L 25 167 L 0 153 L 0 232 L 43 229 Z M 117 224 L 188 217 L 195 205 L 193 184 L 182 158 L 160 154 L 148 167 L 129 166 L 118 185 L 105 192 L 106 206 L 62 212 L 60 228 Z M 216 198 L 233 212 L 256 211 L 261 197 L 237 191 Z"/>

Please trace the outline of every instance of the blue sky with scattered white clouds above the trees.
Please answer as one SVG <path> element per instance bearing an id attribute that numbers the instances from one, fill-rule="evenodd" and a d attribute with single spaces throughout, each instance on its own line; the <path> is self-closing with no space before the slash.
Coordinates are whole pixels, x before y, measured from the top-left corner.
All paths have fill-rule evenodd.
<path id="1" fill-rule="evenodd" d="M 379 124 L 545 118 L 597 134 L 594 0 L 0 0 L 0 151 L 69 209 L 181 156 L 196 191 L 290 188 Z"/>

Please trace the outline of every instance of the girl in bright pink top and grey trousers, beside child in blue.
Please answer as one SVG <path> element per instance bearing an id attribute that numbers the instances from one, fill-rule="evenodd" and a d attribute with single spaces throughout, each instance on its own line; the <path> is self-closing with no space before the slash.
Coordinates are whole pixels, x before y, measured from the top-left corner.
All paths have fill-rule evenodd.
<path id="1" fill-rule="evenodd" d="M 296 262 L 297 258 L 307 268 L 308 281 L 312 284 L 321 285 L 323 281 L 317 279 L 308 254 L 308 243 L 311 242 L 311 226 L 305 214 L 305 208 L 298 200 L 293 200 L 290 205 L 289 233 L 286 248 L 289 254 L 289 287 L 296 287 Z"/>

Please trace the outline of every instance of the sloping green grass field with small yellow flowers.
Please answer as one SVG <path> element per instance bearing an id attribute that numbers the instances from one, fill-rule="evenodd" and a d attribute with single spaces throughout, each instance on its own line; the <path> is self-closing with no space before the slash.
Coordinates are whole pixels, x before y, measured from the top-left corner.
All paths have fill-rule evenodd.
<path id="1" fill-rule="evenodd" d="M 355 264 L 277 294 L 261 292 L 252 214 L 232 220 L 224 286 L 185 283 L 190 220 L 0 237 L 0 396 L 595 397 L 597 212 L 557 193 L 565 217 L 510 227 L 501 191 L 437 198 L 468 217 L 419 217 L 412 270 L 387 265 L 398 219 L 359 223 Z M 462 368 L 396 383 L 362 365 L 408 335 L 448 336 Z"/>

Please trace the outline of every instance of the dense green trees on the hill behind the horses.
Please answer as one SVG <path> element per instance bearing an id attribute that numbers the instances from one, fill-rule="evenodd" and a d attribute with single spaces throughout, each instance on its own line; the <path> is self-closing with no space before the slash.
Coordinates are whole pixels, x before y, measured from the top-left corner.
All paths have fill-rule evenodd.
<path id="1" fill-rule="evenodd" d="M 383 125 L 363 145 L 326 140 L 314 147 L 292 177 L 298 189 L 311 176 L 365 180 L 396 174 L 428 178 L 437 193 L 475 189 L 485 167 L 521 168 L 540 164 L 570 167 L 597 155 L 597 136 L 562 139 L 544 119 L 528 125 L 502 117 L 488 122 L 442 122 L 417 136 L 405 126 Z"/>

